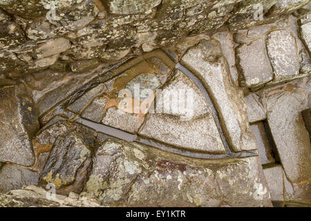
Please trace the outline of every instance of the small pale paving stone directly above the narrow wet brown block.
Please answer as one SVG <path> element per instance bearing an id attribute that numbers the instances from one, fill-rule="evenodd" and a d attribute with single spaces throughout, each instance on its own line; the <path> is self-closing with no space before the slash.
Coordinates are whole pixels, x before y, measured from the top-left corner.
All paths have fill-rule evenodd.
<path id="1" fill-rule="evenodd" d="M 266 119 L 266 111 L 260 97 L 255 93 L 249 94 L 245 97 L 245 104 L 247 107 L 247 115 L 250 123 L 260 122 Z"/>

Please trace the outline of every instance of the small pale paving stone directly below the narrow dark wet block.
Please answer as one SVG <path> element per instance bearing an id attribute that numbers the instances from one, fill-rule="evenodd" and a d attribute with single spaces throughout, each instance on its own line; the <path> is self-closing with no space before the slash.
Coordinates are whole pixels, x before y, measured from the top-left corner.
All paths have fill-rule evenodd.
<path id="1" fill-rule="evenodd" d="M 263 169 L 272 201 L 284 201 L 283 169 L 281 165 Z"/>

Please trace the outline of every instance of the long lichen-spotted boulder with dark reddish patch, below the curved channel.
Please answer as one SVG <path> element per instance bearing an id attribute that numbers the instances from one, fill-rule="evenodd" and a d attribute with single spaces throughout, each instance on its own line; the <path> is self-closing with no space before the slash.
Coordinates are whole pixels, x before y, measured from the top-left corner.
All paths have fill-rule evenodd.
<path id="1" fill-rule="evenodd" d="M 195 160 L 106 140 L 81 196 L 128 206 L 271 206 L 258 157 Z"/>

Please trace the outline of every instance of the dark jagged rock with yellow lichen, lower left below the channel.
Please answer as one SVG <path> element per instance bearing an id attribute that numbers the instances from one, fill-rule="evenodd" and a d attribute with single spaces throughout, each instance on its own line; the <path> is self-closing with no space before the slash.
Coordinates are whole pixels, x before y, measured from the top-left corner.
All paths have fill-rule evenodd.
<path id="1" fill-rule="evenodd" d="M 69 122 L 57 122 L 39 133 L 38 144 L 51 144 L 48 159 L 40 172 L 39 185 L 55 184 L 56 192 L 80 193 L 91 171 L 94 131 Z"/>

